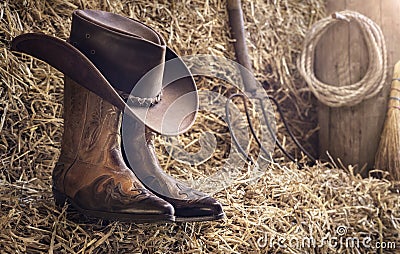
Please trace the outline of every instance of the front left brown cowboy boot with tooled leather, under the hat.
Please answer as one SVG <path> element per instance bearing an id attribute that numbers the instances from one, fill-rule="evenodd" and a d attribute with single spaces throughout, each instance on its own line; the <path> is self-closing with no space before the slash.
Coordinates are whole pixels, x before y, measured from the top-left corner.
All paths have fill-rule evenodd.
<path id="1" fill-rule="evenodd" d="M 68 200 L 81 213 L 105 219 L 173 220 L 173 207 L 125 165 L 120 120 L 119 109 L 65 78 L 64 135 L 53 171 L 56 203 Z"/>

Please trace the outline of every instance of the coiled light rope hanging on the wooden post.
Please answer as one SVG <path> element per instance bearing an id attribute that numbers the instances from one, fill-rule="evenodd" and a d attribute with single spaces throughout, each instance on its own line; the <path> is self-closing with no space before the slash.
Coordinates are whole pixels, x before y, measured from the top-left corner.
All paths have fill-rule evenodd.
<path id="1" fill-rule="evenodd" d="M 358 23 L 368 48 L 368 69 L 364 77 L 354 84 L 344 86 L 325 84 L 318 80 L 314 73 L 314 50 L 324 32 L 343 20 Z M 378 94 L 385 83 L 386 63 L 386 45 L 379 26 L 358 12 L 342 11 L 318 21 L 308 31 L 298 68 L 319 101 L 330 107 L 341 107 L 354 106 Z"/>

